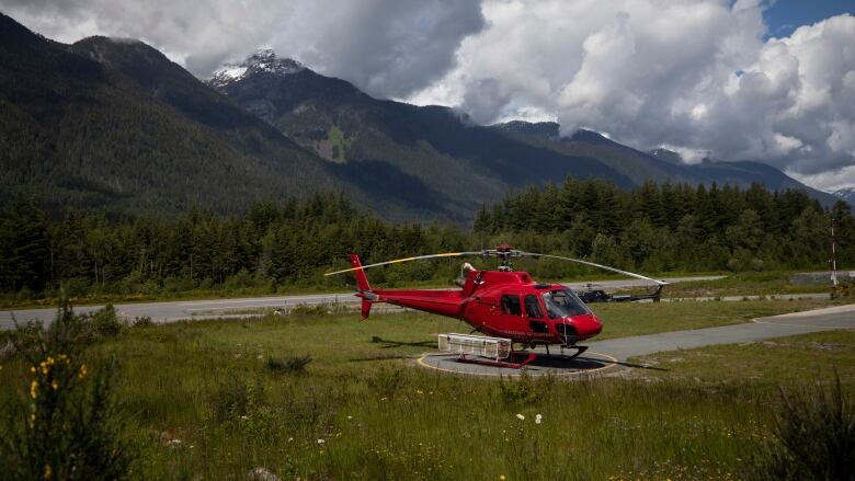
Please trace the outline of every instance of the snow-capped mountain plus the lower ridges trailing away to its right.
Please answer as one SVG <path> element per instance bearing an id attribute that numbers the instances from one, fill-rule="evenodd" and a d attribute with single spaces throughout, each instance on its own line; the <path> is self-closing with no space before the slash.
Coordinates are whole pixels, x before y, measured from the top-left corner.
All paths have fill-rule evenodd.
<path id="1" fill-rule="evenodd" d="M 647 181 L 756 182 L 771 190 L 803 190 L 830 202 L 827 194 L 760 162 L 689 165 L 675 152 L 641 152 L 590 130 L 562 137 L 557 123 L 480 126 L 451 108 L 373 99 L 272 50 L 227 66 L 208 85 L 342 169 L 394 168 L 421 180 L 454 213 L 470 213 L 474 205 L 510 191 L 560 182 L 568 174 L 607 179 L 624 188 Z"/>

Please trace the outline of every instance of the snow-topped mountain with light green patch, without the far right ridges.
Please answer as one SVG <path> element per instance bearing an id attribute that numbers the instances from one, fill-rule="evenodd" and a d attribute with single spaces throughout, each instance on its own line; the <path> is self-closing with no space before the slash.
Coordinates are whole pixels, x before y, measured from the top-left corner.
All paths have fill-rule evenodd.
<path id="1" fill-rule="evenodd" d="M 208 85 L 365 185 L 396 188 L 395 179 L 407 176 L 425 186 L 424 202 L 460 218 L 568 174 L 634 185 L 596 159 L 518 141 L 447 107 L 376 100 L 270 50 L 228 66 Z M 384 173 L 392 175 L 371 183 Z"/>

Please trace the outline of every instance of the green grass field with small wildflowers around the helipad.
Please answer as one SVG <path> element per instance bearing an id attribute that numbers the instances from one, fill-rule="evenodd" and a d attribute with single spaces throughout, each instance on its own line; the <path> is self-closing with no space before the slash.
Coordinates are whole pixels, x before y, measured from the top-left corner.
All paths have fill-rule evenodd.
<path id="1" fill-rule="evenodd" d="M 605 339 L 828 304 L 596 308 Z M 282 479 L 732 479 L 771 443 L 777 386 L 836 371 L 855 392 L 853 332 L 662 353 L 645 362 L 668 370 L 629 379 L 501 381 L 413 365 L 436 333 L 464 330 L 418 313 L 271 316 L 130 328 L 88 356 L 121 359 L 116 396 L 134 471 L 148 479 L 246 479 L 259 467 Z M 4 362 L 2 396 L 25 390 L 26 373 Z"/>

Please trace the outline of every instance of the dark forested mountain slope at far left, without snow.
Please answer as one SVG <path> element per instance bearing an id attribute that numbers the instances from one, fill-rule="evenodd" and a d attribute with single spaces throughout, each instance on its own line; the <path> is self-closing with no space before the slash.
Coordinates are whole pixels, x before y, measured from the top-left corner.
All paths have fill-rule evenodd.
<path id="1" fill-rule="evenodd" d="M 54 210 L 118 215 L 363 194 L 140 42 L 69 46 L 0 15 L 0 198 L 27 192 Z"/>

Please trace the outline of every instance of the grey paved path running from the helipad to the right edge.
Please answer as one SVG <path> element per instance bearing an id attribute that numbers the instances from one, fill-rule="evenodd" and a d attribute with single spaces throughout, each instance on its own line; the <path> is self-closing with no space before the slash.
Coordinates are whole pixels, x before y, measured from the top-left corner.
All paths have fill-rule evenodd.
<path id="1" fill-rule="evenodd" d="M 619 360 L 626 360 L 629 357 L 663 351 L 756 342 L 834 329 L 855 329 L 855 305 L 755 319 L 753 322 L 744 324 L 620 337 L 593 342 L 588 345 L 591 351 L 606 353 Z"/>

